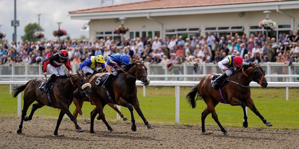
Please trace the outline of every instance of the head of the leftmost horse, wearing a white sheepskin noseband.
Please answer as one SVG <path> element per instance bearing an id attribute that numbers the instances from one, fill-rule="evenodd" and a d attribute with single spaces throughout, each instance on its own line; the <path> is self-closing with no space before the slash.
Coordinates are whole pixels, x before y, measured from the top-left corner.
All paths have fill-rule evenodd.
<path id="1" fill-rule="evenodd" d="M 87 76 L 84 73 L 79 73 L 77 71 L 78 74 L 78 90 L 81 93 L 84 93 L 85 96 L 90 97 L 91 95 L 91 84 L 89 83 L 89 80 L 87 78 Z"/>

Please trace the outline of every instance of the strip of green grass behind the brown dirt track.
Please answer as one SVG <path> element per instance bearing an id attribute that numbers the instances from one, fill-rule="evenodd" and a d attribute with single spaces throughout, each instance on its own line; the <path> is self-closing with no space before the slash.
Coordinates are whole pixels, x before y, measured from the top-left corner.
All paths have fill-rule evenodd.
<path id="1" fill-rule="evenodd" d="M 191 109 L 185 98 L 189 88 L 180 87 L 180 124 L 201 125 L 201 112 L 206 108 L 203 100 L 197 101 L 197 107 Z M 138 87 L 138 99 L 140 109 L 149 123 L 175 124 L 175 96 L 174 87 L 146 87 L 146 97 L 142 96 L 142 87 Z M 22 93 L 24 95 L 24 92 Z M 0 85 L 0 116 L 17 116 L 17 98 L 9 94 L 9 85 Z M 251 88 L 251 97 L 259 112 L 270 121 L 273 126 L 268 127 L 262 123 L 257 115 L 248 109 L 249 128 L 271 128 L 271 129 L 295 129 L 299 130 L 299 92 L 298 88 L 289 89 L 289 101 L 285 100 L 285 88 Z M 94 105 L 84 102 L 82 112 L 90 119 L 90 112 Z M 22 98 L 23 108 L 23 98 Z M 31 106 L 27 111 L 30 114 Z M 73 113 L 75 105 L 71 104 L 70 111 Z M 229 104 L 218 104 L 215 108 L 218 119 L 226 127 L 242 127 L 243 110 L 240 106 Z M 121 107 L 121 112 L 127 116 L 131 123 L 130 112 L 127 108 Z M 105 106 L 104 114 L 107 121 L 116 121 L 116 112 L 109 106 Z M 44 106 L 33 115 L 36 117 L 57 119 L 59 110 Z M 136 122 L 143 123 L 142 119 L 134 110 Z M 82 117 L 78 114 L 78 119 Z M 211 114 L 206 118 L 206 125 L 217 126 Z M 220 129 L 219 129 L 220 130 Z M 198 130 L 200 132 L 200 130 Z"/>

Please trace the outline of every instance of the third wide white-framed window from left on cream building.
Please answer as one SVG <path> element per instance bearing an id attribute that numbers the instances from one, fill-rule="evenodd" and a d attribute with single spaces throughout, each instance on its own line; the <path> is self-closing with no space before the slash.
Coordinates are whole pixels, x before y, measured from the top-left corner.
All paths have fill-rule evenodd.
<path id="1" fill-rule="evenodd" d="M 192 38 L 192 36 L 200 36 L 200 28 L 192 27 L 192 28 L 177 28 L 177 29 L 165 29 L 165 35 L 172 38 L 175 36 L 182 36 L 183 40 L 186 38 Z"/>

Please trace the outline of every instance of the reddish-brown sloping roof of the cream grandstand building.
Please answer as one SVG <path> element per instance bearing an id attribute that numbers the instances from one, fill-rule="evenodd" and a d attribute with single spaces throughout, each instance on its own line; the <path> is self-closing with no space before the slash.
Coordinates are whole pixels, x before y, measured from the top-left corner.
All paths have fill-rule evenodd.
<path id="1" fill-rule="evenodd" d="M 70 11 L 70 14 L 77 13 L 99 13 L 99 12 L 115 12 L 128 10 L 145 10 L 145 9 L 162 9 L 162 8 L 183 8 L 183 7 L 200 7 L 200 6 L 216 6 L 230 4 L 245 3 L 265 3 L 265 2 L 281 2 L 289 0 L 149 0 L 136 3 L 127 3 L 121 5 L 113 5 L 107 7 L 98 7 L 90 9 L 82 9 Z"/>

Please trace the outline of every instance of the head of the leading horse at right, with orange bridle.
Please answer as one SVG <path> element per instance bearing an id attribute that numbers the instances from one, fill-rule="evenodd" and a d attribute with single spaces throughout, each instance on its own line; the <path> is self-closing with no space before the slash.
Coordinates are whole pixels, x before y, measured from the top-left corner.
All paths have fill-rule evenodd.
<path id="1" fill-rule="evenodd" d="M 268 82 L 265 78 L 265 71 L 262 69 L 260 64 L 255 65 L 251 63 L 252 66 L 252 75 L 251 79 L 254 82 L 257 82 L 262 86 L 262 88 L 267 88 Z"/>

